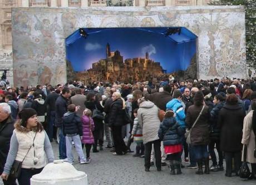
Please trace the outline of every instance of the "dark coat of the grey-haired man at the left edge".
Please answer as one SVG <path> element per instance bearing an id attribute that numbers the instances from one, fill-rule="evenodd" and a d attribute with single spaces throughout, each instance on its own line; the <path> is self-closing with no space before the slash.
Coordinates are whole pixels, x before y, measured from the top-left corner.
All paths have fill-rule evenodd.
<path id="1" fill-rule="evenodd" d="M 0 123 L 0 174 L 3 172 L 4 164 L 8 156 L 10 141 L 14 130 L 12 117 Z"/>

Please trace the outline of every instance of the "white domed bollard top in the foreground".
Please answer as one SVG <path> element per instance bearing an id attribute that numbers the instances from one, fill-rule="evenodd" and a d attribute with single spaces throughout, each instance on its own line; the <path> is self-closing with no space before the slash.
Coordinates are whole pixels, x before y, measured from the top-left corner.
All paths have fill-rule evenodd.
<path id="1" fill-rule="evenodd" d="M 49 163 L 42 172 L 30 179 L 31 185 L 87 185 L 85 172 L 77 171 L 73 165 L 63 160 Z"/>

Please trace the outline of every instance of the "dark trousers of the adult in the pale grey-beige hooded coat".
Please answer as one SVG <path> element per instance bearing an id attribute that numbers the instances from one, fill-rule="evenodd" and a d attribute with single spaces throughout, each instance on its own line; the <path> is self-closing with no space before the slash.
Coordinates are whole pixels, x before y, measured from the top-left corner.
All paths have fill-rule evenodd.
<path id="1" fill-rule="evenodd" d="M 150 155 L 152 150 L 152 144 L 154 144 L 156 168 L 161 169 L 161 141 L 155 140 L 147 142 L 145 144 L 145 168 L 150 168 Z"/>

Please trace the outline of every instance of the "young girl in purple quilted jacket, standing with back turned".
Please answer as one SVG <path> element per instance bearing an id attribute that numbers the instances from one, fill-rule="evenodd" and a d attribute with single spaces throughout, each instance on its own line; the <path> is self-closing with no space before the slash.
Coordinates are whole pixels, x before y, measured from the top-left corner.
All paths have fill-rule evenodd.
<path id="1" fill-rule="evenodd" d="M 91 116 L 92 111 L 90 109 L 85 109 L 83 111 L 83 116 L 81 117 L 83 126 L 82 147 L 85 145 L 86 148 L 86 163 L 91 162 L 90 151 L 92 144 L 94 143 L 92 131 L 95 126 Z"/>

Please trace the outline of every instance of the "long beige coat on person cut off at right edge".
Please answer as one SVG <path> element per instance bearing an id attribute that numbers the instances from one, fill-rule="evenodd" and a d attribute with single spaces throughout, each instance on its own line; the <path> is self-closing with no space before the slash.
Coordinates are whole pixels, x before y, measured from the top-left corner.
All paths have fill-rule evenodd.
<path id="1" fill-rule="evenodd" d="M 255 135 L 252 130 L 253 124 L 253 110 L 250 111 L 247 116 L 244 117 L 244 127 L 243 127 L 243 138 L 242 144 L 247 145 L 247 157 L 246 161 L 249 163 L 256 163 L 256 158 L 253 156 L 253 151 L 255 148 Z M 243 161 L 244 152 L 242 155 Z"/>

